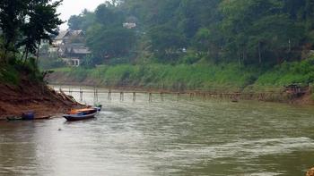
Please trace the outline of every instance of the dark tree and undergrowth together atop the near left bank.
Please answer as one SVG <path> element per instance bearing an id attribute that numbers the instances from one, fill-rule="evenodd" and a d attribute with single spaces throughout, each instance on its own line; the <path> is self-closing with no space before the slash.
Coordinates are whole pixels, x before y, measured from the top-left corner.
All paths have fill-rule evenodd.
<path id="1" fill-rule="evenodd" d="M 4 0 L 0 2 L 0 81 L 18 85 L 20 80 L 43 82 L 47 72 L 38 69 L 39 46 L 51 42 L 62 23 L 61 1 Z M 36 57 L 36 58 L 35 58 Z"/>

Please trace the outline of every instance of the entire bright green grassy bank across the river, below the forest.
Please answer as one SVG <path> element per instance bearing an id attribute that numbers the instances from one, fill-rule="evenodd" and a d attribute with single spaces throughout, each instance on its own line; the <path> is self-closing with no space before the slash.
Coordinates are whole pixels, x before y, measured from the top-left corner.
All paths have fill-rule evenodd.
<path id="1" fill-rule="evenodd" d="M 107 87 L 167 89 L 261 90 L 283 88 L 292 83 L 314 82 L 314 58 L 300 63 L 282 63 L 271 70 L 237 63 L 192 65 L 150 63 L 145 65 L 100 65 L 93 69 L 55 69 L 52 83 L 91 83 Z"/>

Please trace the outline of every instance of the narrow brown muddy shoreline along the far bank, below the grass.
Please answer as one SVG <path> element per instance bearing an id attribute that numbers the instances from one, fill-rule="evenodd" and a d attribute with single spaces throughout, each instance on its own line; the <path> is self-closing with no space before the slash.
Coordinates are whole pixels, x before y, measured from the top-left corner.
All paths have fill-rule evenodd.
<path id="1" fill-rule="evenodd" d="M 274 102 L 274 103 L 283 103 L 291 105 L 314 105 L 314 100 L 311 99 L 310 90 L 308 90 L 303 95 L 296 95 L 292 93 L 287 93 L 284 91 L 278 91 L 275 89 L 273 91 L 222 91 L 219 89 L 181 89 L 181 90 L 171 90 L 171 89 L 162 89 L 162 88 L 144 88 L 144 87 L 111 87 L 100 85 L 95 87 L 91 84 L 72 82 L 67 84 L 59 83 L 49 83 L 48 85 L 61 88 L 91 88 L 91 89 L 108 89 L 108 91 L 117 92 L 134 92 L 134 93 L 153 93 L 153 94 L 173 94 L 173 95 L 189 95 L 189 96 L 203 96 L 203 97 L 214 97 L 214 98 L 229 98 L 231 101 L 240 101 L 240 100 L 252 100 L 259 102 Z M 64 89 L 66 92 L 67 90 Z"/>

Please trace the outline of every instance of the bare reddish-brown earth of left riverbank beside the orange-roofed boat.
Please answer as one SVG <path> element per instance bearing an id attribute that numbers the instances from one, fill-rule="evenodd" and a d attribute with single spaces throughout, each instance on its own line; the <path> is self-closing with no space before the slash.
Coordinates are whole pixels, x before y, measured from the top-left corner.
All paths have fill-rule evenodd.
<path id="1" fill-rule="evenodd" d="M 32 111 L 35 119 L 55 116 L 80 106 L 74 100 L 58 94 L 45 84 L 22 79 L 18 85 L 0 83 L 0 120 L 21 116 Z"/>

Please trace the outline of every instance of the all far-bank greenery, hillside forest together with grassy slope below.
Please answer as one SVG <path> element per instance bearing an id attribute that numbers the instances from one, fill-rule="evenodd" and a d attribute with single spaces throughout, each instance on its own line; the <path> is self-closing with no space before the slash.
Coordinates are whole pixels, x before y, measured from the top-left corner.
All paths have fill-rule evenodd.
<path id="1" fill-rule="evenodd" d="M 92 55 L 55 71 L 77 82 L 250 91 L 314 81 L 311 0 L 121 0 L 68 24 Z"/>

